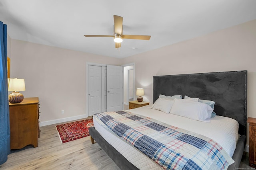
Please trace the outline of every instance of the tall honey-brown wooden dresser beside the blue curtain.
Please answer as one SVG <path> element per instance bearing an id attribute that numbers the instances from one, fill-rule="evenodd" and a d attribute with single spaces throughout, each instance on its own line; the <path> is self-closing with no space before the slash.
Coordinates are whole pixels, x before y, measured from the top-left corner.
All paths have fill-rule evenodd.
<path id="1" fill-rule="evenodd" d="M 21 103 L 9 103 L 11 149 L 21 149 L 27 145 L 38 147 L 39 100 L 24 98 Z"/>

